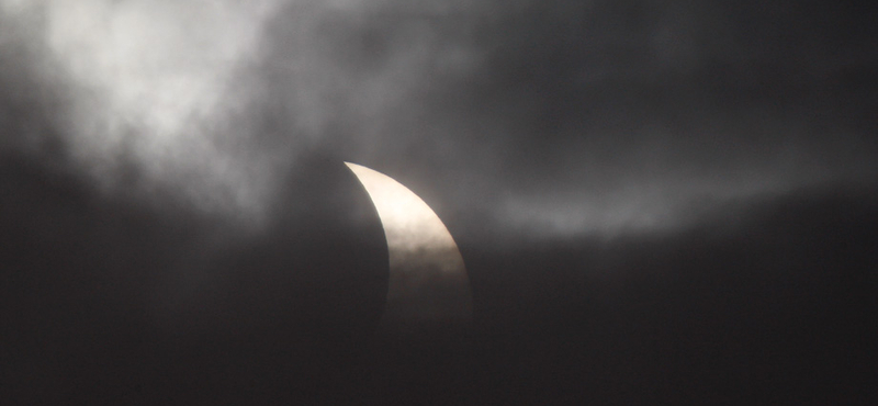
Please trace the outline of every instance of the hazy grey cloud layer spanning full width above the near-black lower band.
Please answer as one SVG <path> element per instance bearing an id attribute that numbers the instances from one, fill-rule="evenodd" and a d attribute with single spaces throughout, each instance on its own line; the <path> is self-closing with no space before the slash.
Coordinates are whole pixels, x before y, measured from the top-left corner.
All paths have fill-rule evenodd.
<path id="1" fill-rule="evenodd" d="M 245 224 L 270 222 L 303 154 L 384 171 L 480 235 L 673 228 L 693 207 L 875 179 L 874 29 L 856 5 L 3 10 L 4 48 L 29 55 L 4 75 L 53 94 L 33 121 L 78 171 Z"/>

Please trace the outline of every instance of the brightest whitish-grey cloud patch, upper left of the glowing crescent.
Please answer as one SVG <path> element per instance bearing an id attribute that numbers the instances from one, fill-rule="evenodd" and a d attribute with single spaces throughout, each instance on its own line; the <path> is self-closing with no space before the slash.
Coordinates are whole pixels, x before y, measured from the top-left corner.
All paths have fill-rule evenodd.
<path id="1" fill-rule="evenodd" d="M 248 221 L 266 211 L 277 157 L 246 115 L 270 2 L 4 5 L 64 101 L 52 114 L 70 161 L 102 189 Z"/>

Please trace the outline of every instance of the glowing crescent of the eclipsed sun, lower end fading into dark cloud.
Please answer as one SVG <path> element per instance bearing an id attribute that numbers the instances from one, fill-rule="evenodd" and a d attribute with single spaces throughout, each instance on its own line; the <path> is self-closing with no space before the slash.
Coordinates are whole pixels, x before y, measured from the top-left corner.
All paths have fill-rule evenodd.
<path id="1" fill-rule="evenodd" d="M 439 216 L 391 177 L 345 162 L 378 211 L 387 241 L 387 302 L 380 325 L 460 323 L 472 318 L 463 258 Z"/>

